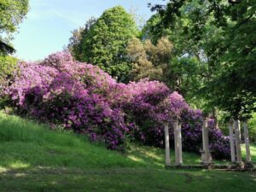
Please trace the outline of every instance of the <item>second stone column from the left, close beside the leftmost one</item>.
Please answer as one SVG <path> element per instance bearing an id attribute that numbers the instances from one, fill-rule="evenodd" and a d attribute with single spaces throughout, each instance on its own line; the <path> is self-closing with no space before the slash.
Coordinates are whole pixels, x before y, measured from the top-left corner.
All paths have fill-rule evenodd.
<path id="1" fill-rule="evenodd" d="M 181 166 L 183 164 L 182 137 L 181 137 L 181 128 L 178 125 L 177 119 L 173 120 L 173 129 L 174 129 L 174 146 L 175 146 L 175 166 Z"/>

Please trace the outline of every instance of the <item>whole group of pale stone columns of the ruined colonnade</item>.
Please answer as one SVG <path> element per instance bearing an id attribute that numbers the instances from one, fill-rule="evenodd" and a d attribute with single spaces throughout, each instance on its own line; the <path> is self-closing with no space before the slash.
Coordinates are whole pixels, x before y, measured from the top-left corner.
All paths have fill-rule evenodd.
<path id="1" fill-rule="evenodd" d="M 208 119 L 202 120 L 202 149 L 201 149 L 201 164 L 204 166 L 212 165 L 212 154 L 209 146 L 208 136 Z M 169 139 L 169 124 L 165 123 L 165 142 L 166 142 L 166 166 L 171 166 L 170 156 L 170 139 Z M 230 120 L 230 156 L 231 162 L 236 166 L 243 167 L 244 162 L 241 160 L 241 125 L 243 126 L 244 142 L 246 147 L 246 166 L 252 166 L 249 134 L 247 120 L 240 122 L 240 120 Z M 174 148 L 175 148 L 175 166 L 183 165 L 183 151 L 182 151 L 182 125 L 178 119 L 172 120 L 172 127 L 174 131 Z"/>

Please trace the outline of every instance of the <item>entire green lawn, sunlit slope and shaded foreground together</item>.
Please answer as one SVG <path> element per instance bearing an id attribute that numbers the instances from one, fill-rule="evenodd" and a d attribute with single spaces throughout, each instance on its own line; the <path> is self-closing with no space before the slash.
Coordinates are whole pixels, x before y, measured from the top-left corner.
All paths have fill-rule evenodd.
<path id="1" fill-rule="evenodd" d="M 213 192 L 256 188 L 255 173 L 167 171 L 162 164 L 163 150 L 132 145 L 122 155 L 90 144 L 84 137 L 44 128 L 0 113 L 1 192 Z M 256 146 L 252 154 L 256 161 Z M 199 162 L 195 154 L 183 155 L 185 163 Z"/>

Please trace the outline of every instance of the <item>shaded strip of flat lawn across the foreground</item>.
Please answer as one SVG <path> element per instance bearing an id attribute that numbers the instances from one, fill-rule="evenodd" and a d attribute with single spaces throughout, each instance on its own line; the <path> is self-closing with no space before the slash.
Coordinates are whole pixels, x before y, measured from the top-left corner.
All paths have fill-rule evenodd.
<path id="1" fill-rule="evenodd" d="M 245 172 L 148 168 L 72 169 L 38 166 L 0 172 L 0 191 L 253 191 L 256 175 Z"/>

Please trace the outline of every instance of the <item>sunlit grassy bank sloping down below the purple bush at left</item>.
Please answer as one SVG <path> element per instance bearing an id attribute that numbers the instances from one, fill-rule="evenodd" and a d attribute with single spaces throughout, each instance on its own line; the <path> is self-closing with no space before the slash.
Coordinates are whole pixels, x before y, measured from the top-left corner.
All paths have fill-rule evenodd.
<path id="1" fill-rule="evenodd" d="M 0 114 L 0 166 L 65 166 L 103 168 L 135 166 L 121 154 L 100 145 L 90 144 L 86 137 L 67 131 L 51 131 L 46 125 Z"/>

